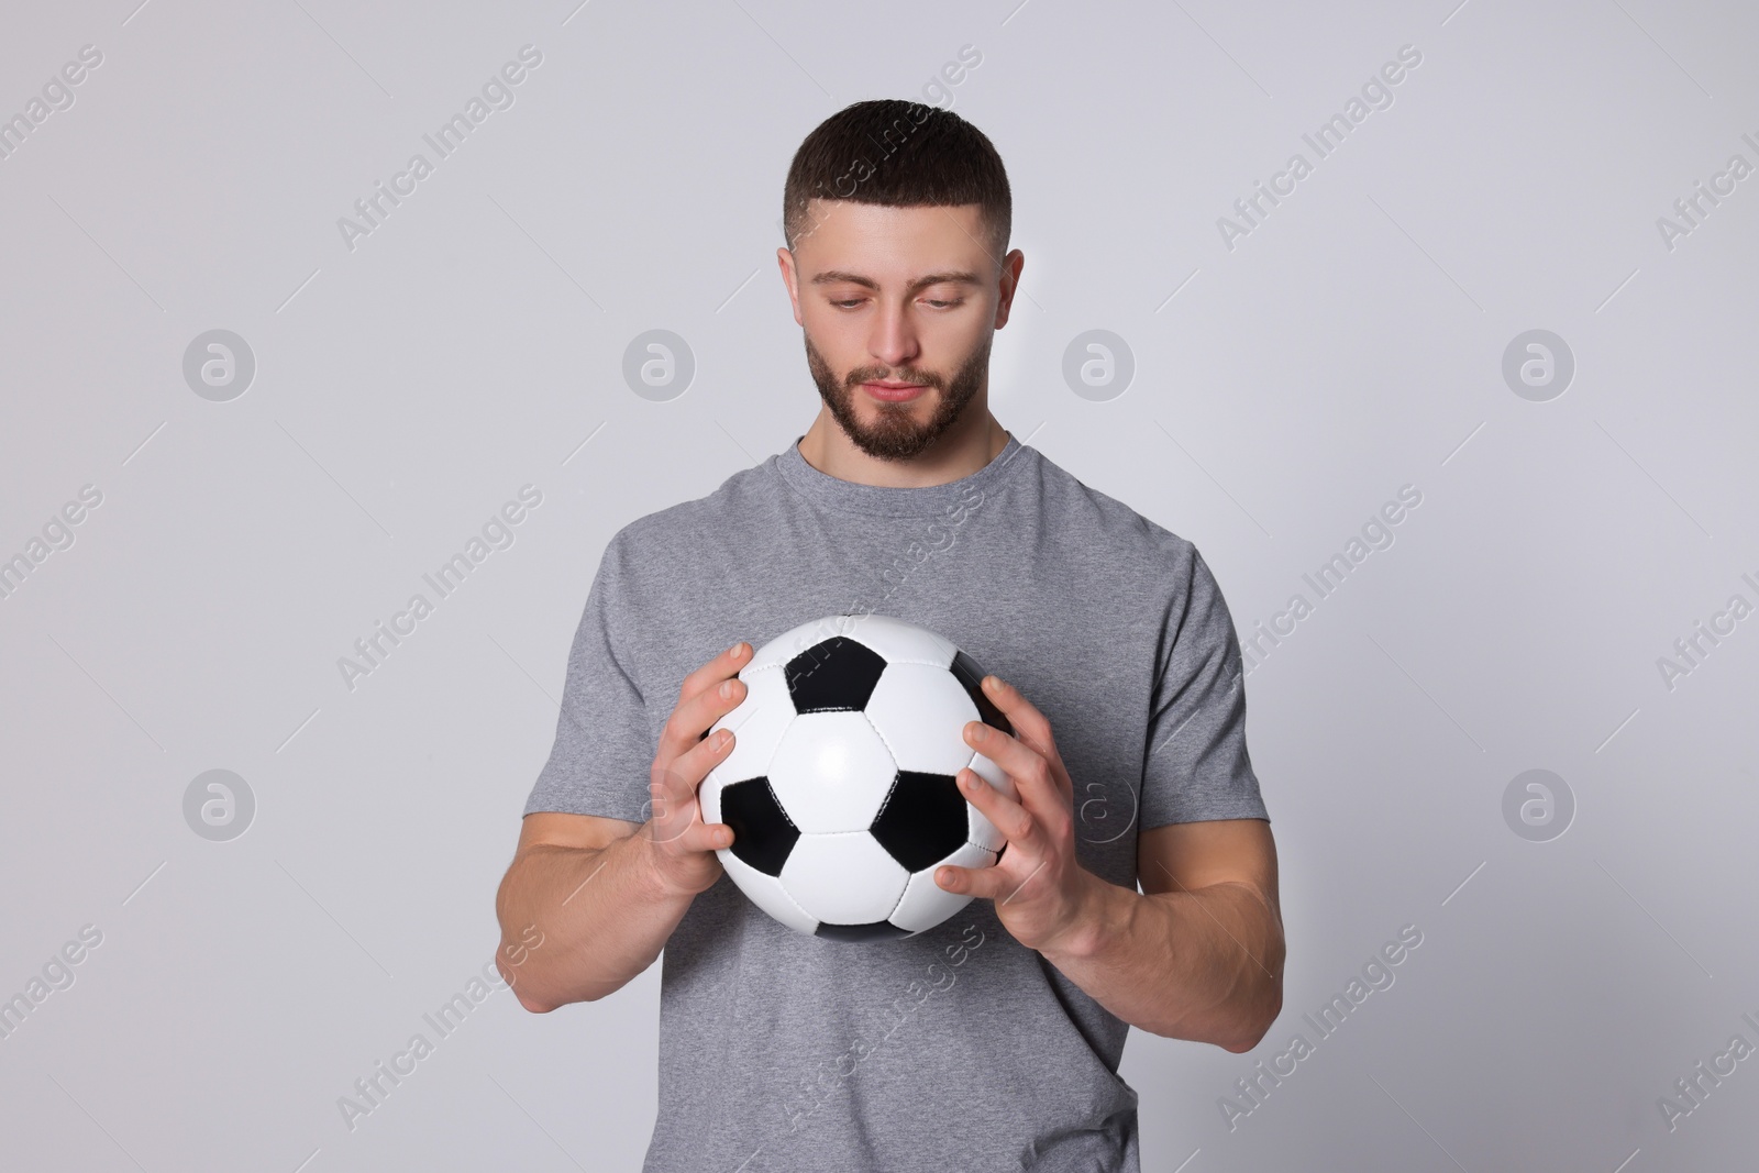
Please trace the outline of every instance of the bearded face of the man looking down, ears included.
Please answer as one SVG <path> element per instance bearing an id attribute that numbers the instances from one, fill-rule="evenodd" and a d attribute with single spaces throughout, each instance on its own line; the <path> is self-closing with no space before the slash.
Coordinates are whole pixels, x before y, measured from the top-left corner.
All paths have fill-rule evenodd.
<path id="1" fill-rule="evenodd" d="M 987 251 L 976 206 L 811 200 L 779 253 L 818 394 L 867 455 L 909 461 L 989 380 L 1018 264 Z"/>

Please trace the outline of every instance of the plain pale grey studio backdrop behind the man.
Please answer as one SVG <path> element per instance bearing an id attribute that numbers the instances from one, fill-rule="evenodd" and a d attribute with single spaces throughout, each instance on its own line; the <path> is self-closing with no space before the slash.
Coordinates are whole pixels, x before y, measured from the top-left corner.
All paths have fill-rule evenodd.
<path id="1" fill-rule="evenodd" d="M 1759 9 L 135 5 L 0 37 L 7 1168 L 639 1164 L 658 969 L 470 983 L 603 543 L 818 406 L 871 97 L 994 139 L 996 413 L 1252 652 L 1286 1009 L 1131 1038 L 1143 1168 L 1750 1159 Z"/>

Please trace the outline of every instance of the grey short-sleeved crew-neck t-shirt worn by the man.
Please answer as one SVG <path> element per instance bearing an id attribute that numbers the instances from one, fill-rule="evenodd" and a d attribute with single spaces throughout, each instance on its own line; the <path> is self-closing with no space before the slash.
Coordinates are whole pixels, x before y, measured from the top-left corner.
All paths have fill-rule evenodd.
<path id="1" fill-rule="evenodd" d="M 1136 834 L 1266 818 L 1233 621 L 1196 549 L 1013 436 L 925 489 L 799 445 L 605 547 L 526 812 L 640 823 L 684 675 L 823 616 L 931 628 L 1050 719 L 1084 867 L 1135 890 Z M 649 1173 L 1136 1173 L 1128 1024 L 973 900 L 901 941 L 785 929 L 721 876 L 661 962 Z"/>

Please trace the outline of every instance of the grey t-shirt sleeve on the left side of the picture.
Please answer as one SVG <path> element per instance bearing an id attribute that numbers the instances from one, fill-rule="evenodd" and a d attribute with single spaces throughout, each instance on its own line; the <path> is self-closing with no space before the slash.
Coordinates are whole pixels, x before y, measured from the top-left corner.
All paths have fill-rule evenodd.
<path id="1" fill-rule="evenodd" d="M 568 651 L 568 679 L 556 744 L 526 798 L 526 814 L 561 811 L 640 823 L 647 818 L 647 774 L 654 742 L 647 702 L 619 654 L 633 630 L 624 607 L 624 535 L 605 547 L 586 612 Z"/>

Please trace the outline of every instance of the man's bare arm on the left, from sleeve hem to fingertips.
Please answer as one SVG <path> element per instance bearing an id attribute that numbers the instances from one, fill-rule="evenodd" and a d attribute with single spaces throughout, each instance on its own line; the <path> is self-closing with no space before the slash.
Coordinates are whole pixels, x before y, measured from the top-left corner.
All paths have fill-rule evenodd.
<path id="1" fill-rule="evenodd" d="M 739 642 L 684 677 L 649 772 L 646 823 L 544 811 L 521 823 L 494 897 L 494 964 L 526 1009 L 621 988 L 653 965 L 690 902 L 719 879 L 714 851 L 734 832 L 702 821 L 697 788 L 732 751 L 734 733 L 704 733 L 744 700 L 735 674 L 749 656 L 751 645 Z"/>

